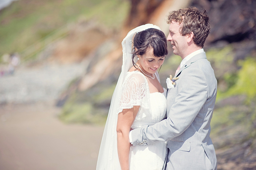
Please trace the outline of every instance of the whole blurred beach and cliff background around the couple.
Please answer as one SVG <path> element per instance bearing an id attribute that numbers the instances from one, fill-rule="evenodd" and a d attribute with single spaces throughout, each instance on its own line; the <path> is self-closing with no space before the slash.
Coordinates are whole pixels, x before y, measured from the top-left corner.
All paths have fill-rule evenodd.
<path id="1" fill-rule="evenodd" d="M 95 169 L 123 38 L 146 23 L 167 36 L 187 6 L 210 17 L 218 169 L 255 170 L 255 0 L 0 0 L 0 169 Z M 165 88 L 181 62 L 168 45 Z"/>

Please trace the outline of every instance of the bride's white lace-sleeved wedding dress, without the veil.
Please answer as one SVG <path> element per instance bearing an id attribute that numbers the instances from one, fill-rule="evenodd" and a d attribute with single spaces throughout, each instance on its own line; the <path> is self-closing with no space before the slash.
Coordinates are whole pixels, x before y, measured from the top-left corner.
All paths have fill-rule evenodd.
<path id="1" fill-rule="evenodd" d="M 159 81 L 157 73 L 155 76 Z M 123 109 L 140 106 L 131 128 L 153 125 L 165 118 L 166 89 L 163 93 L 149 93 L 147 79 L 139 71 L 128 72 L 122 87 L 118 113 Z M 131 146 L 130 170 L 162 170 L 166 153 L 166 142 L 159 141 L 149 146 Z"/>

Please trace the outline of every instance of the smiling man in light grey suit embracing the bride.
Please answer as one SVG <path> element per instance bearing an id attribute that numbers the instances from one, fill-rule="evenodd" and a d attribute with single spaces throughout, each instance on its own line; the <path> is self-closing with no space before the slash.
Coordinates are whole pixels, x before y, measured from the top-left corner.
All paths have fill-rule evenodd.
<path id="1" fill-rule="evenodd" d="M 190 7 L 170 12 L 167 41 L 182 62 L 167 79 L 167 119 L 130 133 L 133 146 L 166 141 L 167 170 L 216 170 L 217 159 L 210 138 L 217 80 L 206 59 L 203 44 L 210 32 L 206 11 Z M 143 158 L 141 158 L 143 159 Z"/>

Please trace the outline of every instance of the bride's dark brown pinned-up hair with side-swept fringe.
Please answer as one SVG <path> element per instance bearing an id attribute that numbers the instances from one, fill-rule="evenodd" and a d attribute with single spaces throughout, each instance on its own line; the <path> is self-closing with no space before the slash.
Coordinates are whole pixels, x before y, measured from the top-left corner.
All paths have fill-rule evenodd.
<path id="1" fill-rule="evenodd" d="M 153 55 L 156 57 L 164 57 L 168 54 L 166 37 L 161 30 L 149 28 L 135 34 L 132 53 L 134 67 L 137 66 L 134 62 L 134 57 L 145 54 L 150 47 L 153 48 Z"/>

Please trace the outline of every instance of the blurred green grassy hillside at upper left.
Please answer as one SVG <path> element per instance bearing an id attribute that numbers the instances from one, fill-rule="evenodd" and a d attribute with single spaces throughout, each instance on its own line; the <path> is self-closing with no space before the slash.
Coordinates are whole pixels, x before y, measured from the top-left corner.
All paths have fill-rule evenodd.
<path id="1" fill-rule="evenodd" d="M 36 56 L 45 45 L 66 36 L 68 25 L 79 19 L 121 28 L 128 10 L 129 1 L 121 0 L 15 1 L 0 12 L 0 56 L 13 52 Z"/>

